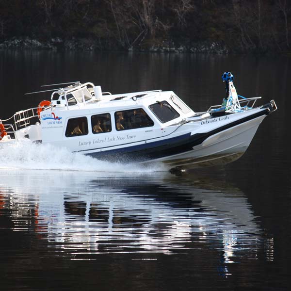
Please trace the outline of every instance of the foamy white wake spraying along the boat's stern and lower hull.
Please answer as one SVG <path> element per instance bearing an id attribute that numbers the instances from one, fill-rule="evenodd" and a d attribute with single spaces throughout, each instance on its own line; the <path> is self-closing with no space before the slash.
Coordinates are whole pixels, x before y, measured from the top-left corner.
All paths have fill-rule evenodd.
<path id="1" fill-rule="evenodd" d="M 32 143 L 30 140 L 0 144 L 0 169 L 59 170 L 108 173 L 163 172 L 162 163 L 139 164 L 106 162 L 71 153 L 66 148 Z"/>

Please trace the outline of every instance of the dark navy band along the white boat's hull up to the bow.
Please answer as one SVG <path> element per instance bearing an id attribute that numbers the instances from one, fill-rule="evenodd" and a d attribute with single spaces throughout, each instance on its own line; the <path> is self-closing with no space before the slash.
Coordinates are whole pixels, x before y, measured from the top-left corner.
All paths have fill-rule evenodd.
<path id="1" fill-rule="evenodd" d="M 196 133 L 191 136 L 191 133 L 183 134 L 178 137 L 168 138 L 161 141 L 144 143 L 136 146 L 127 146 L 113 150 L 104 150 L 94 153 L 86 153 L 86 155 L 108 161 L 146 161 L 159 159 L 166 156 L 177 155 L 193 150 L 194 146 L 200 145 L 208 137 L 223 130 L 237 126 L 261 115 L 268 113 L 268 110 L 260 111 L 240 120 L 229 123 L 225 126 L 213 129 L 206 133 Z"/>

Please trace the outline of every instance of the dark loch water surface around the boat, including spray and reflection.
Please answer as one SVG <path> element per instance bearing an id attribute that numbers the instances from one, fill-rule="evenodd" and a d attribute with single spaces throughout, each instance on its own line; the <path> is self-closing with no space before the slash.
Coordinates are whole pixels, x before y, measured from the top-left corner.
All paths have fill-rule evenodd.
<path id="1" fill-rule="evenodd" d="M 0 290 L 290 290 L 291 58 L 0 51 L 0 118 L 68 81 L 173 90 L 204 111 L 228 70 L 240 95 L 279 109 L 226 166 L 171 174 L 0 146 Z"/>

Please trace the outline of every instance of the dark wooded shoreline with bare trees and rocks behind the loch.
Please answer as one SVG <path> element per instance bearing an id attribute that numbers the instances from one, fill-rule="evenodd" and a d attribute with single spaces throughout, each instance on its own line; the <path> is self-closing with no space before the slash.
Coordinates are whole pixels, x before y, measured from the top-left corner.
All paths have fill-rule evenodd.
<path id="1" fill-rule="evenodd" d="M 2 0 L 0 49 L 281 54 L 291 0 Z"/>

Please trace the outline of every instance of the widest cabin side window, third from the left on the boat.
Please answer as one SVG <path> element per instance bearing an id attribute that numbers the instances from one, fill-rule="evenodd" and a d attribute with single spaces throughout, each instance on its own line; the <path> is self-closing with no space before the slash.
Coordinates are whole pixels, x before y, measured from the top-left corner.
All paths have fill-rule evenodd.
<path id="1" fill-rule="evenodd" d="M 118 111 L 114 113 L 116 130 L 150 127 L 154 122 L 142 108 Z"/>

